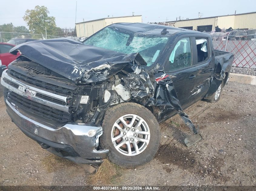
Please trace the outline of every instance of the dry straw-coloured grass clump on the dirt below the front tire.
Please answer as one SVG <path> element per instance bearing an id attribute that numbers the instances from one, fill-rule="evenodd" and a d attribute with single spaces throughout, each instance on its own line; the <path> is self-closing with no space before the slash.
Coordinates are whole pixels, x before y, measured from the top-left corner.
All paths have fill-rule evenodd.
<path id="1" fill-rule="evenodd" d="M 104 159 L 97 172 L 89 177 L 88 183 L 92 185 L 118 184 L 121 180 L 122 170 L 121 167 Z"/>

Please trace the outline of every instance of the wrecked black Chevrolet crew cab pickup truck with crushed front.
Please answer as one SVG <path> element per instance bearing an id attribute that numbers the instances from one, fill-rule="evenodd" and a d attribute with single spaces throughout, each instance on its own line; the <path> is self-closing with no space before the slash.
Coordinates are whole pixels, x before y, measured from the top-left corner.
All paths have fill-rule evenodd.
<path id="1" fill-rule="evenodd" d="M 216 102 L 232 53 L 207 33 L 143 23 L 111 24 L 85 41 L 37 40 L 2 74 L 7 113 L 42 148 L 77 163 L 109 158 L 136 167 L 154 158 L 159 125 L 198 100 Z M 213 127 L 214 128 L 214 127 Z"/>

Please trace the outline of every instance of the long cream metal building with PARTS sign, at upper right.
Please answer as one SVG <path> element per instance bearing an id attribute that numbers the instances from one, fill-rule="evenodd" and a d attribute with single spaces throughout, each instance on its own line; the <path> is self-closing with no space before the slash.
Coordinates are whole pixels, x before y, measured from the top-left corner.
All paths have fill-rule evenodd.
<path id="1" fill-rule="evenodd" d="M 215 27 L 233 29 L 256 29 L 256 12 L 222 15 L 188 20 L 168 21 L 168 26 L 210 32 Z"/>

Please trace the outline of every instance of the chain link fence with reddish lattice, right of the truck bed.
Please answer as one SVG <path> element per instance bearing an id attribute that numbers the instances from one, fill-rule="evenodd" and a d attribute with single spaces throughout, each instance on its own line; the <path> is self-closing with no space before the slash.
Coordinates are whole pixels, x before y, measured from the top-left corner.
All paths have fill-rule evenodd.
<path id="1" fill-rule="evenodd" d="M 234 54 L 233 66 L 256 68 L 256 35 L 212 36 L 214 49 Z"/>

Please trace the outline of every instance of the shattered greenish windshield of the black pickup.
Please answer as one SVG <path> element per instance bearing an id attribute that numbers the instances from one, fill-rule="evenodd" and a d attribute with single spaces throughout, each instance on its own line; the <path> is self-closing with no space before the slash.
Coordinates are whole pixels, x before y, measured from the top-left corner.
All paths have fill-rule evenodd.
<path id="1" fill-rule="evenodd" d="M 168 42 L 168 37 L 142 35 L 116 27 L 107 27 L 88 38 L 84 44 L 130 54 L 140 53 L 151 66 Z"/>

